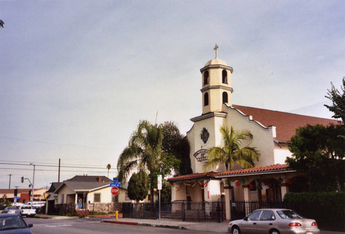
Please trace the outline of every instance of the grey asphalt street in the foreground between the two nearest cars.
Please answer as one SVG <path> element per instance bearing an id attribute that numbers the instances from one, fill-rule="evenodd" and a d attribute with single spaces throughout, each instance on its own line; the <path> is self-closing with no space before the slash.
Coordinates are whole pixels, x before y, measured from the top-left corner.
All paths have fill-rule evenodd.
<path id="1" fill-rule="evenodd" d="M 189 231 L 174 228 L 157 228 L 152 226 L 132 226 L 123 224 L 107 224 L 101 222 L 102 218 L 69 219 L 69 220 L 46 220 L 25 217 L 34 234 L 86 234 L 86 233 L 204 233 L 204 231 Z M 212 233 L 212 232 L 208 232 Z"/>

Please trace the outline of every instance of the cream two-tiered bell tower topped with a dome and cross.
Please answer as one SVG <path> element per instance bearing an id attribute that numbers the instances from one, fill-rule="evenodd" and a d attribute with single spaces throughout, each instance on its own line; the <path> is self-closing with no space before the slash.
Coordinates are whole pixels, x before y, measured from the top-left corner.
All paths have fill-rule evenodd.
<path id="1" fill-rule="evenodd" d="M 202 74 L 202 114 L 221 111 L 221 105 L 226 103 L 231 106 L 231 74 L 233 67 L 229 67 L 226 61 L 218 58 L 217 50 L 219 46 L 215 45 L 215 58 L 208 61 L 200 69 Z"/>

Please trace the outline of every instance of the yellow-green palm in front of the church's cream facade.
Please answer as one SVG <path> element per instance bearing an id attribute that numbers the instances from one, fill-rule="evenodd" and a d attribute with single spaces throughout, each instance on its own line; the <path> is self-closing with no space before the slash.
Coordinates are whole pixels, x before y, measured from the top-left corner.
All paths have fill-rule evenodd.
<path id="1" fill-rule="evenodd" d="M 244 169 L 254 167 L 254 162 L 259 160 L 260 153 L 255 147 L 240 148 L 242 140 L 253 139 L 249 131 L 235 131 L 231 126 L 220 128 L 224 140 L 224 147 L 212 147 L 208 149 L 208 160 L 204 163 L 204 170 L 210 171 L 219 164 L 225 164 L 226 171 L 239 164 Z"/>

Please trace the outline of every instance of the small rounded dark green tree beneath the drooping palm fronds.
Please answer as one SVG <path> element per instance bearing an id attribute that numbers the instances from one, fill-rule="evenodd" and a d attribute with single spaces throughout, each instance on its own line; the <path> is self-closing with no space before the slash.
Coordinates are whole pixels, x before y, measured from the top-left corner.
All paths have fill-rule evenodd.
<path id="1" fill-rule="evenodd" d="M 130 200 L 144 200 L 148 195 L 148 175 L 145 171 L 133 173 L 128 182 L 128 198 Z"/>

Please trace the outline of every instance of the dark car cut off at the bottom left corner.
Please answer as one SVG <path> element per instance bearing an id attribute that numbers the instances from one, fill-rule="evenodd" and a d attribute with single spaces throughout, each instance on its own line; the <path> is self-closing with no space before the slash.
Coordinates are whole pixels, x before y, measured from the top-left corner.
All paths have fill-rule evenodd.
<path id="1" fill-rule="evenodd" d="M 13 213 L 0 214 L 0 233 L 32 234 L 32 224 L 26 224 L 20 215 Z"/>

